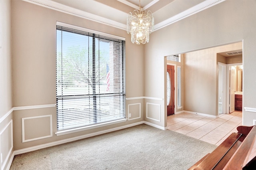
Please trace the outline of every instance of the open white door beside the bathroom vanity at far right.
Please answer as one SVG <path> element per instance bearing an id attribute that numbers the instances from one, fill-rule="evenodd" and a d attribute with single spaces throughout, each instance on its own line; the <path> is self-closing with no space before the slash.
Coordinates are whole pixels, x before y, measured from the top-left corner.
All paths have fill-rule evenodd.
<path id="1" fill-rule="evenodd" d="M 230 72 L 230 108 L 229 113 L 235 111 L 235 70 L 236 68 L 231 66 Z"/>

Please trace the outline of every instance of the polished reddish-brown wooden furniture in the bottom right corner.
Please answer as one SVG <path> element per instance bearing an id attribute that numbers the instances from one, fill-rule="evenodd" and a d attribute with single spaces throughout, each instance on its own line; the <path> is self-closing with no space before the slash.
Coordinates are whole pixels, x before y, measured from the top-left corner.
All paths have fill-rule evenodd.
<path id="1" fill-rule="evenodd" d="M 256 170 L 256 126 L 237 130 L 189 170 Z"/>

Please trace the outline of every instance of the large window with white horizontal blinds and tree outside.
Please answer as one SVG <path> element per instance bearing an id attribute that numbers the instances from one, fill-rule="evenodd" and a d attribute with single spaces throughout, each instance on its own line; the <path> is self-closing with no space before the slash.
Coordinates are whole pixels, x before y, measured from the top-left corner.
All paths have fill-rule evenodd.
<path id="1" fill-rule="evenodd" d="M 57 130 L 124 119 L 125 41 L 59 25 Z"/>

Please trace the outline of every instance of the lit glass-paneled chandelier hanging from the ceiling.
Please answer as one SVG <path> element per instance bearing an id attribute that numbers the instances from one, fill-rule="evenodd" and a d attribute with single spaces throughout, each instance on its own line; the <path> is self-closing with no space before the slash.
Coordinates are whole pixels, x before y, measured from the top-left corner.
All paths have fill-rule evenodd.
<path id="1" fill-rule="evenodd" d="M 141 9 L 129 12 L 127 16 L 127 33 L 131 33 L 132 43 L 145 44 L 149 34 L 154 31 L 154 17 L 151 11 Z"/>

